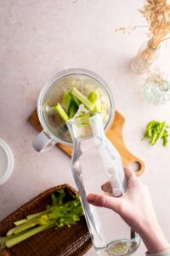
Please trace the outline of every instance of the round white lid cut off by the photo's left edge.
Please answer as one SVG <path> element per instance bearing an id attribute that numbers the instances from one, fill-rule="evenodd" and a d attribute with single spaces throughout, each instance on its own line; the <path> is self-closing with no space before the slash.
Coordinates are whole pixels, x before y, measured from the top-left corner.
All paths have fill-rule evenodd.
<path id="1" fill-rule="evenodd" d="M 0 139 L 0 185 L 10 177 L 14 168 L 14 155 L 8 144 Z"/>

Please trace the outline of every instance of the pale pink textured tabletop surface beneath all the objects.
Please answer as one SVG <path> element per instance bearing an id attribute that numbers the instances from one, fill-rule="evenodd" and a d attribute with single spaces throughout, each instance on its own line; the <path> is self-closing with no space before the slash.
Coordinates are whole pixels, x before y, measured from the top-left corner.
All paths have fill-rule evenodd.
<path id="1" fill-rule="evenodd" d="M 58 148 L 44 154 L 31 148 L 37 131 L 27 118 L 49 78 L 63 69 L 82 67 L 99 73 L 110 84 L 116 108 L 127 120 L 125 142 L 145 162 L 141 179 L 150 187 L 159 222 L 170 239 L 170 145 L 152 148 L 141 142 L 150 119 L 170 120 L 170 104 L 156 107 L 146 102 L 144 77 L 129 69 L 145 39 L 145 29 L 131 35 L 115 32 L 119 26 L 145 24 L 137 11 L 142 4 L 131 0 L 1 1 L 0 137 L 14 152 L 14 172 L 0 187 L 0 219 L 54 185 L 75 186 L 68 156 Z M 169 46 L 163 49 L 158 64 L 168 71 Z M 144 250 L 141 245 L 134 255 L 142 256 Z M 94 250 L 87 255 L 94 256 Z"/>

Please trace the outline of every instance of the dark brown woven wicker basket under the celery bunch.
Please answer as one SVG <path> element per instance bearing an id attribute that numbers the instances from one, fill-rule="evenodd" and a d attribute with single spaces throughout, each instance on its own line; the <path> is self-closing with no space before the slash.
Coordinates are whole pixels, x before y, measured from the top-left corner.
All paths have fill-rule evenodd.
<path id="1" fill-rule="evenodd" d="M 0 223 L 0 236 L 5 236 L 13 227 L 16 220 L 26 215 L 42 211 L 51 202 L 51 194 L 59 189 L 65 189 L 66 200 L 72 200 L 76 190 L 68 184 L 46 190 L 31 201 L 8 215 Z M 57 230 L 54 228 L 42 231 L 26 241 L 11 248 L 0 249 L 0 256 L 81 256 L 92 247 L 88 226 L 84 217 L 71 228 L 64 226 Z"/>

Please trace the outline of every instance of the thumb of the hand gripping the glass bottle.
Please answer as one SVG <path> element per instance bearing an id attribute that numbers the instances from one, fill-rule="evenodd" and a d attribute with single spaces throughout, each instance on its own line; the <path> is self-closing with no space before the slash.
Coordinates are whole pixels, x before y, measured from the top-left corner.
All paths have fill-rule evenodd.
<path id="1" fill-rule="evenodd" d="M 99 195 L 99 194 L 89 194 L 87 200 L 90 204 L 95 207 L 105 207 L 110 208 L 115 212 L 120 212 L 121 199 L 111 197 L 108 195 Z"/>

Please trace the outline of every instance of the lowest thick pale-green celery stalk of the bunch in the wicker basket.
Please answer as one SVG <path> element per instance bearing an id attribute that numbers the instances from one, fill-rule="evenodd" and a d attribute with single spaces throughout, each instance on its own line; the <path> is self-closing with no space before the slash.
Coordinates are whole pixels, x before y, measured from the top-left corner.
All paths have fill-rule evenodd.
<path id="1" fill-rule="evenodd" d="M 6 247 L 10 248 L 13 247 L 15 244 L 19 243 L 20 241 L 24 241 L 27 238 L 36 235 L 37 233 L 43 231 L 43 230 L 48 230 L 48 228 L 51 228 L 51 226 L 40 226 L 40 227 L 36 227 L 34 229 L 28 230 L 26 233 L 24 234 L 20 234 L 18 236 L 15 236 L 13 238 L 8 238 L 6 243 Z"/>

